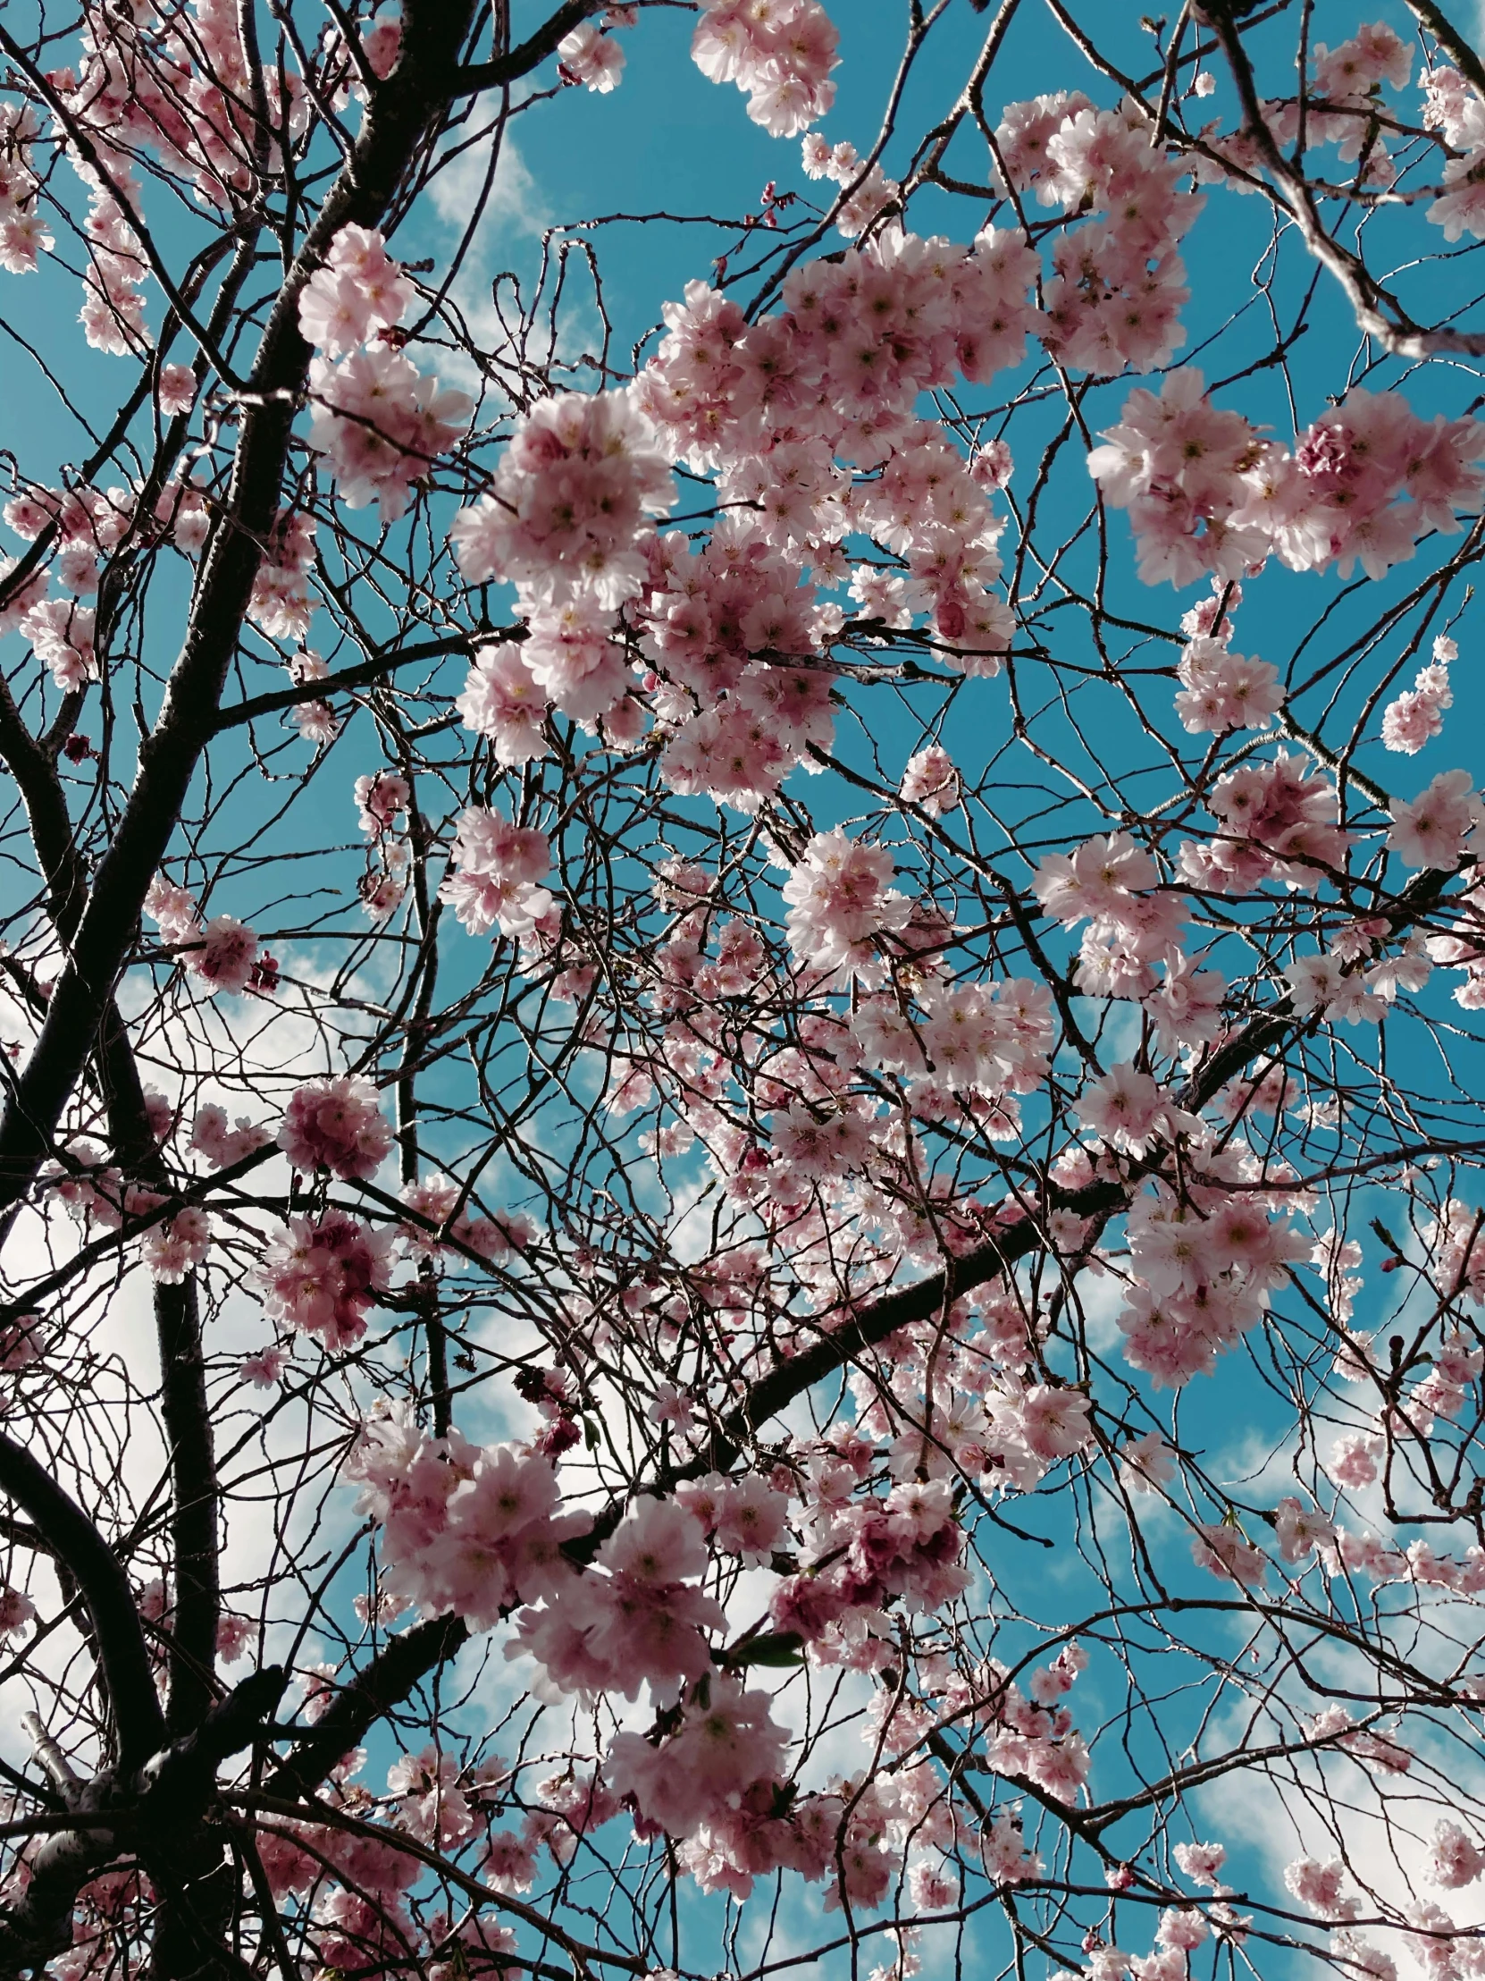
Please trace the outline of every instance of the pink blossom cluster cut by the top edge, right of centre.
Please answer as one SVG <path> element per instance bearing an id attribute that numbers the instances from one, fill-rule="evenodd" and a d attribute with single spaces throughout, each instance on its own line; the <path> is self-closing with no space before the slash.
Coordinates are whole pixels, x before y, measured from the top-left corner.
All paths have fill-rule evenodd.
<path id="1" fill-rule="evenodd" d="M 713 83 L 746 91 L 748 117 L 794 137 L 836 101 L 840 36 L 818 0 L 703 0 L 691 59 Z"/>

